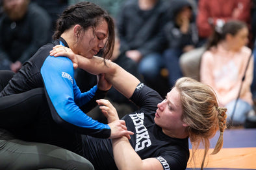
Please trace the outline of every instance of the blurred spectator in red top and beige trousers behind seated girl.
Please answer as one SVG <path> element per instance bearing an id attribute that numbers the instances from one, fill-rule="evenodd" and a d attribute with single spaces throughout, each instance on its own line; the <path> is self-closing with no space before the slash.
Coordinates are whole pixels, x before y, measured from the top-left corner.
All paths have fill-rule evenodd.
<path id="1" fill-rule="evenodd" d="M 250 28 L 251 0 L 199 0 L 196 23 L 199 48 L 181 56 L 180 65 L 185 76 L 199 80 L 199 63 L 205 52 L 205 44 L 216 25 L 224 25 L 230 19 L 244 21 Z"/>

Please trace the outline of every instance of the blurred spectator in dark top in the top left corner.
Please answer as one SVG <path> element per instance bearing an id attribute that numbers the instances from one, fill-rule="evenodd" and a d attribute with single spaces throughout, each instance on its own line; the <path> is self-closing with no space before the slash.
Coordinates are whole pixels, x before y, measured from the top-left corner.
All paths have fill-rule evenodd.
<path id="1" fill-rule="evenodd" d="M 0 18 L 0 69 L 18 72 L 45 43 L 51 20 L 40 6 L 29 0 L 3 0 Z"/>

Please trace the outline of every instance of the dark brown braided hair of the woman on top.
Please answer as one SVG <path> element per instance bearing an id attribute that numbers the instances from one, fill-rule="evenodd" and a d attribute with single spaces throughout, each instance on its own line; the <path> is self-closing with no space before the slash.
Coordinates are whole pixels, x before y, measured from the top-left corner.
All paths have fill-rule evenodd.
<path id="1" fill-rule="evenodd" d="M 109 36 L 102 54 L 103 58 L 110 58 L 114 49 L 114 21 L 105 10 L 94 3 L 83 1 L 68 6 L 57 20 L 53 39 L 58 39 L 65 30 L 68 30 L 73 25 L 81 25 L 84 30 L 90 27 L 94 29 L 102 20 L 107 22 L 109 28 Z"/>

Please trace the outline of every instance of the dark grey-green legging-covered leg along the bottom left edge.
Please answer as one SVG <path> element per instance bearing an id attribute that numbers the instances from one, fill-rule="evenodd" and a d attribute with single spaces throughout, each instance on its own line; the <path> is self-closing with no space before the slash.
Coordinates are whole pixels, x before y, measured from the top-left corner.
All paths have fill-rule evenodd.
<path id="1" fill-rule="evenodd" d="M 1 140 L 0 169 L 94 169 L 93 165 L 78 154 L 55 145 Z"/>

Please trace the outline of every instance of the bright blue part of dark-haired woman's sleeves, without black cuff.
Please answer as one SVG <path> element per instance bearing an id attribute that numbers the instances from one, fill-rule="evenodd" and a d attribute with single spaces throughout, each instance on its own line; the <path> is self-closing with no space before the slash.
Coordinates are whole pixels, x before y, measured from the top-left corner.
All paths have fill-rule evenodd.
<path id="1" fill-rule="evenodd" d="M 80 90 L 78 91 L 79 88 L 73 79 L 73 72 L 73 63 L 66 57 L 48 56 L 41 68 L 45 89 L 57 114 L 65 123 L 68 122 L 83 127 L 85 128 L 84 131 L 86 129 L 110 129 L 109 125 L 99 123 L 84 114 L 79 106 L 75 104 L 75 96 L 83 104 L 94 96 L 97 89 L 94 87 L 92 92 L 88 92 L 88 94 L 79 94 Z"/>

